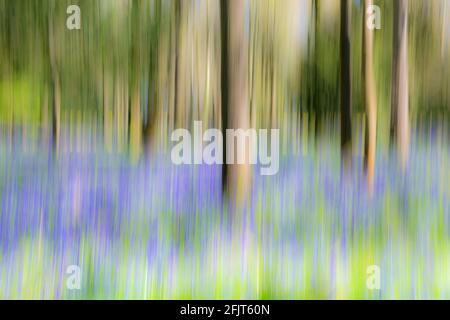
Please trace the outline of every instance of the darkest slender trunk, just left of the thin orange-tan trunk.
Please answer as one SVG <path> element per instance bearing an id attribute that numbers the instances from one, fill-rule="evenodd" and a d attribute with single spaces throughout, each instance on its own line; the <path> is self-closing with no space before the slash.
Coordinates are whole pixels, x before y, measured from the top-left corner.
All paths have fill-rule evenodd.
<path id="1" fill-rule="evenodd" d="M 351 167 L 352 157 L 352 84 L 350 65 L 351 1 L 341 1 L 341 158 L 344 171 Z"/>

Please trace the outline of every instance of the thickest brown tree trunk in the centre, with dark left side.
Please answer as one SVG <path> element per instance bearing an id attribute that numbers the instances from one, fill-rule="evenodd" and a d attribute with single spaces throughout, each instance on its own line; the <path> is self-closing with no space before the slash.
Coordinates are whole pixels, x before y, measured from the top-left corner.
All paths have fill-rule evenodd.
<path id="1" fill-rule="evenodd" d="M 226 129 L 247 130 L 250 127 L 244 12 L 243 1 L 221 1 L 222 130 L 224 132 L 222 180 L 229 204 L 235 208 L 240 207 L 246 199 L 251 180 L 248 149 L 245 164 L 226 164 Z M 234 162 L 236 162 L 236 144 L 234 151 Z"/>

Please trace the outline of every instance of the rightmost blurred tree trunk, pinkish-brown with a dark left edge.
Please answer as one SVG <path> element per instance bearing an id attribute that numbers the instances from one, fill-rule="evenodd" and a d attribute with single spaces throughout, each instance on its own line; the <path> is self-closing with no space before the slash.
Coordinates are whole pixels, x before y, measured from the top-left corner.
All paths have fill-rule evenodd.
<path id="1" fill-rule="evenodd" d="M 394 57 L 392 74 L 391 138 L 395 139 L 400 166 L 409 157 L 408 1 L 394 1 Z"/>

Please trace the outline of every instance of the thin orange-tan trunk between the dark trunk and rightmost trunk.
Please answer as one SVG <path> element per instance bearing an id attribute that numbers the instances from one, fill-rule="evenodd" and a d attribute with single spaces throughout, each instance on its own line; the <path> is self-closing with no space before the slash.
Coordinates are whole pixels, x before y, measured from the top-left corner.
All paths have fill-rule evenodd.
<path id="1" fill-rule="evenodd" d="M 375 153 L 377 140 L 377 95 L 373 72 L 373 30 L 367 27 L 367 8 L 373 0 L 364 1 L 363 18 L 363 81 L 364 104 L 366 107 L 366 132 L 364 145 L 364 168 L 367 174 L 369 194 L 373 193 Z"/>

